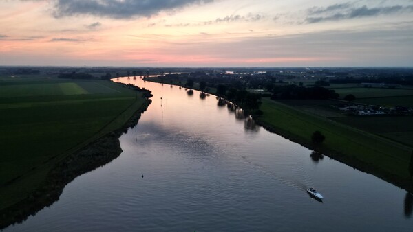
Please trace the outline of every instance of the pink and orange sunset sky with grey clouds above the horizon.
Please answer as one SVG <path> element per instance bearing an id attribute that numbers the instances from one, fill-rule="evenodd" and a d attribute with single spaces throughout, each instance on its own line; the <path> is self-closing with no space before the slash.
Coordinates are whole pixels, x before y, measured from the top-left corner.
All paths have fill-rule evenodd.
<path id="1" fill-rule="evenodd" d="M 0 0 L 0 65 L 413 67 L 413 0 Z"/>

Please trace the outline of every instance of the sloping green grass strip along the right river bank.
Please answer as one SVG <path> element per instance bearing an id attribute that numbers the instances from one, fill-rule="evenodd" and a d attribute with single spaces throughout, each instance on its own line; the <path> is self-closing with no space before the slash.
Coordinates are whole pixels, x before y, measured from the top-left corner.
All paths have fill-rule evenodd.
<path id="1" fill-rule="evenodd" d="M 320 130 L 326 136 L 321 150 L 338 152 L 348 159 L 357 159 L 400 178 L 409 175 L 407 167 L 412 149 L 409 146 L 267 98 L 262 100 L 260 109 L 264 112 L 260 121 L 304 146 L 311 146 L 310 136 L 315 130 Z"/>

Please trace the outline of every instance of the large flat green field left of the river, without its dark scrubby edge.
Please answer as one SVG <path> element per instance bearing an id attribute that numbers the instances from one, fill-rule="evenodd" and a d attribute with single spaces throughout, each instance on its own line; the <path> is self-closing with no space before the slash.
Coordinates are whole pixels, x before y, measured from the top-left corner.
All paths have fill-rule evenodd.
<path id="1" fill-rule="evenodd" d="M 0 82 L 0 209 L 28 196 L 54 164 L 120 128 L 141 93 L 103 80 Z"/>

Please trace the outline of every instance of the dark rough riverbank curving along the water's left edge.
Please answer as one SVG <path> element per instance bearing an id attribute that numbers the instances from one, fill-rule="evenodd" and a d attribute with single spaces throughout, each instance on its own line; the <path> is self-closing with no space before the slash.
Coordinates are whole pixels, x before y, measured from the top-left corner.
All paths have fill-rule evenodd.
<path id="1" fill-rule="evenodd" d="M 128 87 L 123 84 L 120 84 L 120 86 L 123 86 L 122 88 Z M 29 194 L 26 194 L 24 198 L 16 198 L 19 200 L 9 202 L 6 207 L 0 210 L 0 229 L 8 227 L 10 224 L 22 222 L 28 216 L 52 205 L 53 202 L 59 200 L 59 196 L 67 183 L 70 183 L 81 174 L 109 163 L 120 155 L 122 149 L 118 138 L 128 128 L 136 125 L 140 115 L 146 111 L 151 103 L 151 100 L 147 98 L 150 96 L 149 91 L 128 91 L 134 93 L 134 101 L 125 110 L 118 113 L 114 119 L 105 124 L 103 128 L 100 128 L 94 136 L 89 137 L 89 139 L 77 144 L 63 154 L 52 156 L 43 163 L 44 167 L 34 168 L 32 174 L 25 174 L 24 178 L 16 178 L 16 181 L 11 181 L 2 186 L 1 194 L 3 196 L 10 195 L 8 198 L 12 199 L 12 192 L 17 191 L 18 187 L 24 187 L 23 183 L 32 180 L 43 180 L 36 185 L 34 190 L 19 189 Z M 98 101 L 96 101 L 97 103 Z"/>

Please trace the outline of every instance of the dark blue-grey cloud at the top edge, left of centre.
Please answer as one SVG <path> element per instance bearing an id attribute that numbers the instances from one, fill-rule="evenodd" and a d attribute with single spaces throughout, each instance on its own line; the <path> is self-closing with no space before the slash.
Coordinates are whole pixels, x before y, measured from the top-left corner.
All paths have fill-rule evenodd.
<path id="1" fill-rule="evenodd" d="M 54 16 L 92 15 L 113 19 L 150 17 L 166 10 L 188 5 L 210 3 L 213 0 L 56 0 Z"/>

